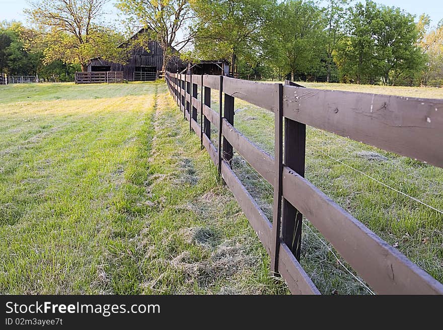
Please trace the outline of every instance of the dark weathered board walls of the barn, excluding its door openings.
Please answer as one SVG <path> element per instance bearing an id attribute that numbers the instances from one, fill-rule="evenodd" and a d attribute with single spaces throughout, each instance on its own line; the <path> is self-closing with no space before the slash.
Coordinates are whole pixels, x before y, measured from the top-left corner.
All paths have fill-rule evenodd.
<path id="1" fill-rule="evenodd" d="M 88 64 L 88 71 L 92 71 L 92 66 L 96 65 L 109 65 L 111 71 L 123 71 L 123 78 L 132 81 L 134 77 L 134 71 L 136 66 L 155 66 L 157 71 L 162 70 L 163 65 L 163 50 L 159 43 L 156 41 L 150 41 L 148 43 L 149 51 L 146 51 L 143 47 L 136 46 L 131 51 L 131 56 L 127 64 L 120 64 L 105 61 L 101 58 L 95 58 Z M 167 70 L 170 72 L 177 72 L 183 70 L 186 67 L 179 57 L 174 56 L 167 65 Z"/>

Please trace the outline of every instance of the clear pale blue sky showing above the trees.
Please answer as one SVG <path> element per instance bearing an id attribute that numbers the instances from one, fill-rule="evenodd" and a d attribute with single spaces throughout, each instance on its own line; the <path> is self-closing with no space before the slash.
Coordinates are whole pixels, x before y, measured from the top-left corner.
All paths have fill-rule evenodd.
<path id="1" fill-rule="evenodd" d="M 111 1 L 111 3 L 114 2 Z M 438 21 L 443 19 L 443 0 L 376 0 L 375 2 L 400 7 L 408 13 L 416 15 L 417 18 L 420 14 L 426 13 L 432 20 L 431 25 L 436 25 Z M 0 0 L 0 21 L 16 20 L 26 23 L 26 17 L 22 11 L 27 7 L 27 0 Z M 114 13 L 113 16 L 116 17 L 117 10 L 113 8 L 112 4 L 107 6 L 107 10 Z"/>

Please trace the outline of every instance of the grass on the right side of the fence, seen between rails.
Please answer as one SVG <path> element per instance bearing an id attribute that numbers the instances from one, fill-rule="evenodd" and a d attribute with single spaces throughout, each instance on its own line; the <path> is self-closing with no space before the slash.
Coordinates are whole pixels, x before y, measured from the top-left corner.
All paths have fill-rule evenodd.
<path id="1" fill-rule="evenodd" d="M 300 84 L 308 88 L 443 98 L 443 89 L 436 88 Z M 212 108 L 218 111 L 216 91 L 212 93 Z M 234 121 L 251 141 L 273 154 L 273 113 L 236 99 Z M 213 129 L 215 145 L 216 133 Z M 443 142 L 440 148 L 436 146 L 436 152 L 443 152 Z M 234 156 L 234 168 L 271 219 L 272 187 L 240 155 Z M 435 279 L 443 281 L 443 214 L 410 198 L 443 210 L 443 169 L 307 127 L 306 178 Z M 320 291 L 372 293 L 309 220 L 304 223 L 301 264 Z"/>

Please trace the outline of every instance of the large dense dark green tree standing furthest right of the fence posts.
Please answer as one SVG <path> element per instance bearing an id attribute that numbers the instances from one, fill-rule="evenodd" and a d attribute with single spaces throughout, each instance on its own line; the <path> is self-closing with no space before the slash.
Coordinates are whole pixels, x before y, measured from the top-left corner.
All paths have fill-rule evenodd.
<path id="1" fill-rule="evenodd" d="M 342 79 L 393 84 L 421 70 L 425 58 L 412 15 L 367 1 L 350 10 L 347 22 L 349 36 L 333 53 Z"/>

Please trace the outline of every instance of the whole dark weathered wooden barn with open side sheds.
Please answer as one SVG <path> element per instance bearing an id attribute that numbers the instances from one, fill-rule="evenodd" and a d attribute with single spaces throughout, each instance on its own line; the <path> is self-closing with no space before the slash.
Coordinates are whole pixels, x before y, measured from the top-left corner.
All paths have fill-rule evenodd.
<path id="1" fill-rule="evenodd" d="M 141 29 L 131 39 L 143 33 Z M 128 47 L 129 43 L 120 45 Z M 176 52 L 175 50 L 173 50 Z M 131 46 L 129 59 L 126 64 L 106 61 L 102 58 L 93 58 L 88 64 L 88 71 L 123 71 L 123 78 L 128 81 L 149 81 L 161 76 L 163 65 L 163 49 L 157 41 L 150 41 L 147 49 L 140 46 Z M 180 72 L 187 67 L 178 56 L 173 56 L 166 69 L 170 72 Z"/>

